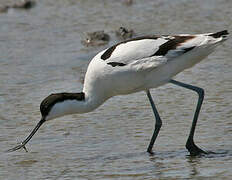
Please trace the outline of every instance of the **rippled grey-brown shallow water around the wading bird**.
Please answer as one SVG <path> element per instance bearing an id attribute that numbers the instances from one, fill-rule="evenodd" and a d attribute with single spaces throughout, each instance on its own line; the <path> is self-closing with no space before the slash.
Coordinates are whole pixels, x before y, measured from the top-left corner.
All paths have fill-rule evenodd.
<path id="1" fill-rule="evenodd" d="M 185 142 L 197 96 L 173 85 L 152 90 L 163 119 L 153 156 L 146 148 L 154 117 L 143 92 L 47 122 L 28 144 L 29 153 L 3 153 L 39 121 L 44 97 L 81 91 L 89 61 L 117 42 L 118 27 L 137 35 L 232 32 L 230 0 L 134 2 L 40 0 L 29 11 L 0 14 L 0 179 L 231 178 L 231 39 L 175 78 L 205 89 L 195 141 L 217 154 L 189 156 Z M 103 29 L 111 35 L 108 45 L 81 44 L 84 32 Z"/>

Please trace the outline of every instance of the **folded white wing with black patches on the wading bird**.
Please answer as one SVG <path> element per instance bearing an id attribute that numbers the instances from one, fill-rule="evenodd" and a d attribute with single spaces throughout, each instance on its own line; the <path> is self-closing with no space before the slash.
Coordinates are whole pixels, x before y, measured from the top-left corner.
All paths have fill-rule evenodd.
<path id="1" fill-rule="evenodd" d="M 101 59 L 112 67 L 145 70 L 158 67 L 183 55 L 205 40 L 204 35 L 175 35 L 140 37 L 116 44 L 101 54 Z"/>

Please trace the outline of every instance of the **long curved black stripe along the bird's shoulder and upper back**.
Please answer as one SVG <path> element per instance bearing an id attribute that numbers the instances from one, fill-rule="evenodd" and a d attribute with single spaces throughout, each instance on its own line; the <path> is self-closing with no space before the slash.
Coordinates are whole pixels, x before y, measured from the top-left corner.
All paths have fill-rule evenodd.
<path id="1" fill-rule="evenodd" d="M 115 44 L 114 46 L 108 48 L 108 49 L 101 55 L 101 59 L 102 59 L 102 60 L 106 60 L 106 59 L 110 58 L 110 56 L 112 55 L 112 53 L 114 52 L 114 50 L 116 49 L 116 47 L 119 46 L 120 44 L 124 44 L 124 43 L 131 42 L 131 41 L 143 40 L 143 39 L 158 39 L 159 37 L 160 37 L 160 36 L 143 36 L 143 37 L 137 37 L 137 38 L 129 39 L 129 40 L 127 40 L 127 41 L 120 42 L 120 43 Z"/>

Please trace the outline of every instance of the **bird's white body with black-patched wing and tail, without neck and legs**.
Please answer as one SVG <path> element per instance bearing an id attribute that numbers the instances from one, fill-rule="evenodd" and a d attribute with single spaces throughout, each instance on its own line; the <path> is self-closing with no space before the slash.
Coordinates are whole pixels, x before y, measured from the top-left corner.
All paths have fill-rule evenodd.
<path id="1" fill-rule="evenodd" d="M 84 90 L 102 91 L 111 97 L 155 88 L 200 62 L 227 35 L 227 31 L 220 31 L 145 36 L 118 43 L 90 62 Z"/>

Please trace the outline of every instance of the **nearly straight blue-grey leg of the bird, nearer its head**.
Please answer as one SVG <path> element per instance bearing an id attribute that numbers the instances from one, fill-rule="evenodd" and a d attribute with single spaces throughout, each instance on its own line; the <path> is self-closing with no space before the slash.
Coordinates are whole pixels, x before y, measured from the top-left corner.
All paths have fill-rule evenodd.
<path id="1" fill-rule="evenodd" d="M 160 119 L 159 113 L 158 113 L 158 111 L 157 111 L 157 109 L 155 107 L 155 103 L 153 102 L 150 91 L 147 90 L 146 93 L 147 93 L 147 97 L 148 97 L 148 99 L 150 101 L 150 104 L 151 104 L 151 107 L 152 107 L 152 110 L 154 112 L 155 119 L 156 119 L 155 130 L 153 132 L 150 144 L 149 144 L 149 146 L 147 148 L 147 152 L 149 152 L 150 154 L 153 154 L 152 147 L 153 147 L 153 145 L 155 143 L 155 140 L 156 140 L 156 138 L 157 138 L 157 136 L 159 134 L 159 130 L 160 130 L 161 126 L 162 126 L 162 120 Z"/>

